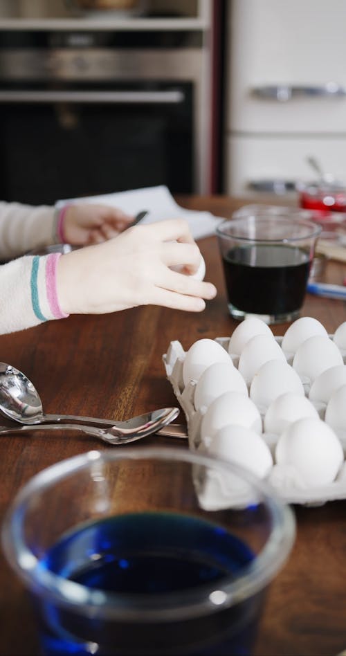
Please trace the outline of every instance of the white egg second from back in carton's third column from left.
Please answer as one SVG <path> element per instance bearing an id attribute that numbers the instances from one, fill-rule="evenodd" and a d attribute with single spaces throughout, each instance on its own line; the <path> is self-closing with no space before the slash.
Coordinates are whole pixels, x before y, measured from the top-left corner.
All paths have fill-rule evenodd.
<path id="1" fill-rule="evenodd" d="M 343 365 L 343 357 L 334 342 L 322 335 L 307 338 L 298 347 L 292 363 L 300 378 L 308 379 L 311 383 L 334 365 Z"/>

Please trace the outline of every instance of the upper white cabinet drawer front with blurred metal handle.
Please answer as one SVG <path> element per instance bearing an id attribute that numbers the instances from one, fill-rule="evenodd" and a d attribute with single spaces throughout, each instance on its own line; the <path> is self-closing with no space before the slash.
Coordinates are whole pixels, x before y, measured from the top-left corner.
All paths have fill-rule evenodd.
<path id="1" fill-rule="evenodd" d="M 346 134 L 345 0 L 233 0 L 227 129 Z"/>

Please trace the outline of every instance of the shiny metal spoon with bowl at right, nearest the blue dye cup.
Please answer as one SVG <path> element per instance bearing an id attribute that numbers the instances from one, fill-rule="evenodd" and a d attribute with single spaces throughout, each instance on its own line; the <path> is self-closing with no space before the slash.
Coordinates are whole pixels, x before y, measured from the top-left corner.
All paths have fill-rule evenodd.
<path id="1" fill-rule="evenodd" d="M 24 426 L 16 426 L 16 428 L 0 426 L 0 435 L 16 435 L 22 431 L 35 432 L 36 430 L 79 430 L 85 435 L 98 437 L 104 442 L 107 442 L 107 444 L 120 445 L 142 439 L 142 437 L 151 435 L 153 432 L 159 432 L 161 426 L 165 426 L 169 421 L 173 421 L 178 413 L 178 408 L 163 408 L 162 410 L 154 410 L 147 414 L 141 414 L 140 417 L 134 417 L 134 421 L 138 420 L 138 423 L 140 423 L 140 428 L 133 429 L 119 428 L 118 426 L 98 428 L 96 426 L 84 426 L 78 423 L 39 423 L 35 426 L 27 426 L 25 424 Z M 131 419 L 127 423 L 131 423 Z"/>

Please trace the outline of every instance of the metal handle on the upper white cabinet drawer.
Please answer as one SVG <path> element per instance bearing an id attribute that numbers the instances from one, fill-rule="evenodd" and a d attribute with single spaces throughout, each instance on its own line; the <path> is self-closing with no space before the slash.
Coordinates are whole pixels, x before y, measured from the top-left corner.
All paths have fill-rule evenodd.
<path id="1" fill-rule="evenodd" d="M 346 95 L 346 89 L 336 82 L 326 82 L 326 84 L 320 86 L 276 84 L 273 86 L 255 86 L 251 93 L 257 98 L 287 102 L 292 98 L 339 98 Z"/>

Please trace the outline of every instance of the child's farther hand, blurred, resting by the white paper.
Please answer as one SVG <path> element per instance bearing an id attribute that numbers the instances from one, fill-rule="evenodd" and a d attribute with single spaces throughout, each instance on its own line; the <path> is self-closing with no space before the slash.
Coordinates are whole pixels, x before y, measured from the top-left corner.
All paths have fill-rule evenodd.
<path id="1" fill-rule="evenodd" d="M 76 204 L 64 210 L 60 233 L 64 242 L 75 246 L 100 244 L 125 230 L 134 217 L 107 205 Z"/>

